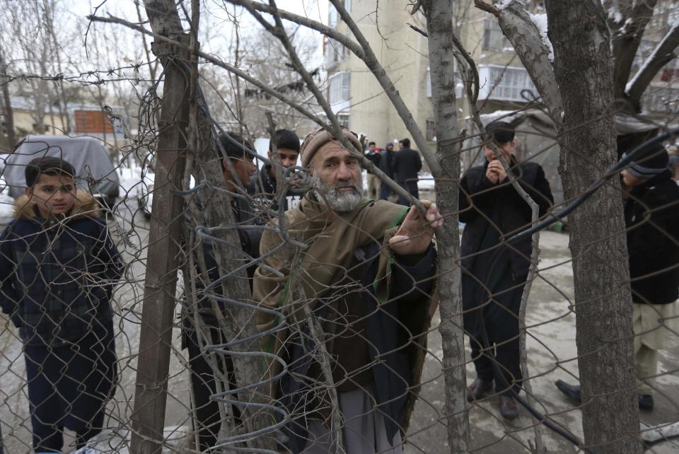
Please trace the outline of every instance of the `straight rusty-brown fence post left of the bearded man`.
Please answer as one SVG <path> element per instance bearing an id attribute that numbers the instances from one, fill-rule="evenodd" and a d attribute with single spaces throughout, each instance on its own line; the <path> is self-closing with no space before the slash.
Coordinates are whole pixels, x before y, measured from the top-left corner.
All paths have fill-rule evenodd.
<path id="1" fill-rule="evenodd" d="M 188 35 L 178 36 L 188 45 Z M 186 55 L 155 43 L 156 55 L 165 59 L 165 83 L 158 124 L 156 180 L 146 257 L 144 303 L 141 312 L 137 385 L 132 414 L 134 454 L 161 453 L 168 392 L 170 346 L 175 315 L 177 269 L 180 266 L 180 236 L 184 200 L 172 190 L 181 190 L 185 169 L 186 130 L 189 117 L 189 75 L 180 62 L 167 55 Z M 186 61 L 187 59 L 185 59 Z"/>

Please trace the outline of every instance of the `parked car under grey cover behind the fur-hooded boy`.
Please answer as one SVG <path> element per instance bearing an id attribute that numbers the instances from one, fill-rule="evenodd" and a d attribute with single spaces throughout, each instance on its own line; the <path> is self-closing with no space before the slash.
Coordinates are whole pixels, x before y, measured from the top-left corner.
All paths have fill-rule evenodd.
<path id="1" fill-rule="evenodd" d="M 119 194 L 118 175 L 108 151 L 93 137 L 26 136 L 13 153 L 6 155 L 2 177 L 11 197 L 26 187 L 25 168 L 35 158 L 54 156 L 71 163 L 83 190 L 91 192 L 104 206 L 113 206 Z"/>

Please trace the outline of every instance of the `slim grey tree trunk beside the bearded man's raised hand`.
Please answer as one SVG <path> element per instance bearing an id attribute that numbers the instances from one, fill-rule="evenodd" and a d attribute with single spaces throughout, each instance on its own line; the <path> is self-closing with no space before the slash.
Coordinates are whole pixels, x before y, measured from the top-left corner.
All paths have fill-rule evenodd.
<path id="1" fill-rule="evenodd" d="M 462 138 L 455 108 L 455 45 L 452 40 L 453 0 L 424 1 L 426 30 L 429 35 L 429 65 L 431 69 L 431 99 L 434 102 L 436 124 L 436 161 L 441 168 L 432 168 L 436 181 L 436 204 L 446 222 L 436 233 L 439 249 L 439 296 L 441 303 L 441 340 L 443 371 L 446 383 L 448 415 L 448 445 L 451 453 L 466 453 L 469 448 L 469 418 L 465 342 L 460 292 L 460 224 L 458 222 L 458 185 L 460 180 L 460 149 Z"/>

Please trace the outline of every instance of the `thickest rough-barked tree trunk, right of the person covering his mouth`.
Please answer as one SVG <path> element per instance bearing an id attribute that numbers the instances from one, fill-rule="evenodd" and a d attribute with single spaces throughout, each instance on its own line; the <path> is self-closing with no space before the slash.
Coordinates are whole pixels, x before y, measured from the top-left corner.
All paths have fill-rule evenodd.
<path id="1" fill-rule="evenodd" d="M 609 35 L 598 0 L 546 7 L 564 103 L 559 173 L 572 199 L 616 161 Z M 603 185 L 569 223 L 585 444 L 596 453 L 641 453 L 620 183 Z"/>

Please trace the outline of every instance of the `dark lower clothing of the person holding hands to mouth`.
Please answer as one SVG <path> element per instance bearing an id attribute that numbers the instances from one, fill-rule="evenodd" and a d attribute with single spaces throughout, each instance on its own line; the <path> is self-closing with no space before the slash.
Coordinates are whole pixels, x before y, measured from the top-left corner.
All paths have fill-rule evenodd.
<path id="1" fill-rule="evenodd" d="M 487 281 L 492 295 L 463 273 L 465 330 L 470 336 L 472 360 L 477 378 L 495 380 L 495 392 L 511 396 L 511 388 L 521 391 L 518 310 L 526 279 L 513 279 L 509 267 L 499 277 Z M 474 309 L 475 308 L 475 309 Z M 488 342 L 484 342 L 485 327 Z M 503 377 L 497 376 L 497 363 Z M 502 379 L 504 378 L 504 380 Z"/>

